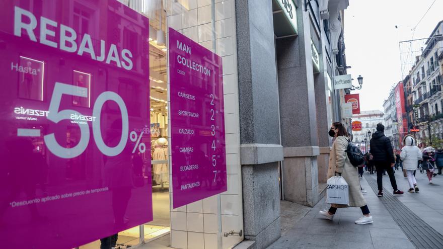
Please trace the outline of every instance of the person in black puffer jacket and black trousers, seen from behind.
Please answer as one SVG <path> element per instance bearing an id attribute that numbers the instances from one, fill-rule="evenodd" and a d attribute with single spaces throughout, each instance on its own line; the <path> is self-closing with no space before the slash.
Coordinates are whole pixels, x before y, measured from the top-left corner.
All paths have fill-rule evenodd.
<path id="1" fill-rule="evenodd" d="M 377 196 L 383 196 L 383 171 L 389 175 L 389 180 L 391 180 L 391 186 L 394 189 L 395 195 L 403 194 L 397 188 L 397 182 L 395 181 L 394 167 L 395 158 L 392 152 L 391 140 L 385 136 L 385 126 L 381 123 L 377 124 L 377 131 L 372 134 L 371 139 L 371 154 L 373 155 L 373 161 L 377 169 L 377 185 L 379 188 L 379 193 Z"/>

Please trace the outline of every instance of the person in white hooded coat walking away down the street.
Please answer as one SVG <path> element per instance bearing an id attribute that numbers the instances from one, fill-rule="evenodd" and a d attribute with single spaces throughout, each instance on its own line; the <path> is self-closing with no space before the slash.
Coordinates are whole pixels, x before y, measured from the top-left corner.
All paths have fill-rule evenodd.
<path id="1" fill-rule="evenodd" d="M 412 135 L 406 135 L 403 138 L 403 143 L 405 146 L 401 150 L 400 159 L 403 161 L 403 169 L 406 170 L 406 176 L 409 182 L 408 192 L 418 192 L 414 171 L 417 169 L 417 161 L 422 160 L 422 154 Z"/>

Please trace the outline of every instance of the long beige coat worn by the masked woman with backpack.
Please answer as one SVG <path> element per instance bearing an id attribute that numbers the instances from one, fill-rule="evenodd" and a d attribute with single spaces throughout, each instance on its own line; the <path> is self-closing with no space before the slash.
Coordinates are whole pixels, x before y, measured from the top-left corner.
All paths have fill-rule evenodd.
<path id="1" fill-rule="evenodd" d="M 329 153 L 328 179 L 335 175 L 335 172 L 341 173 L 342 177 L 349 185 L 349 206 L 362 207 L 366 205 L 366 200 L 360 191 L 360 181 L 358 180 L 358 169 L 354 167 L 345 152 L 348 146 L 348 138 L 338 136 L 335 138 Z M 342 205 L 332 205 L 333 207 L 343 207 Z"/>

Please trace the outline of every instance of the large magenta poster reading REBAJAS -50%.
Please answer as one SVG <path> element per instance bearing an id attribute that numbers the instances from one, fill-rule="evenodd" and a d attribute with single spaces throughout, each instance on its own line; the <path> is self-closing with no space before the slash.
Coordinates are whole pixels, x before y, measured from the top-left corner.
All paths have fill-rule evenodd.
<path id="1" fill-rule="evenodd" d="M 151 161 L 149 20 L 116 0 L 2 3 L 2 243 L 67 249 L 151 221 L 134 167 Z"/>

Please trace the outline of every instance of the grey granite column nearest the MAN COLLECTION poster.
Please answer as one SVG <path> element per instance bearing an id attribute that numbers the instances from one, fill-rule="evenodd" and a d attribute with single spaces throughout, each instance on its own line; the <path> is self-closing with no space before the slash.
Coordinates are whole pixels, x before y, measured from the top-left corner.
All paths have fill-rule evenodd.
<path id="1" fill-rule="evenodd" d="M 236 1 L 245 238 L 266 248 L 280 236 L 280 145 L 272 1 Z"/>

